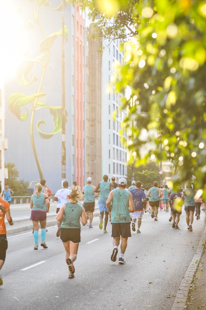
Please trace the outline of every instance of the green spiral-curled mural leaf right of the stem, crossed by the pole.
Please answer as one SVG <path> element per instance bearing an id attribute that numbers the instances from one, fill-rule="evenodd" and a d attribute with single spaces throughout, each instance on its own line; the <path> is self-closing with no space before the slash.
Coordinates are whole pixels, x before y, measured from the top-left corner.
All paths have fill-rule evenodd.
<path id="1" fill-rule="evenodd" d="M 39 135 L 43 139 L 50 139 L 54 134 L 62 130 L 62 107 L 50 107 L 49 105 L 44 104 L 42 102 L 37 102 L 37 104 L 43 108 L 49 109 L 50 113 L 53 115 L 54 130 L 50 134 L 44 133 L 39 129 L 41 125 L 46 125 L 46 122 L 44 120 L 40 120 L 37 123 L 37 130 L 39 132 Z M 66 122 L 67 122 L 67 115 L 68 112 L 66 110 Z"/>

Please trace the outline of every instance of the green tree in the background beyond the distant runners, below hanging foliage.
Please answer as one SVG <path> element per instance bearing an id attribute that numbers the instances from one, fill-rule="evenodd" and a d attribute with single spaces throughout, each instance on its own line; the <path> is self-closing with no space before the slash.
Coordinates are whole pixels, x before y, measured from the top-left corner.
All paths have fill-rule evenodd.
<path id="1" fill-rule="evenodd" d="M 134 168 L 134 180 L 140 181 L 145 188 L 146 186 L 151 187 L 154 181 L 158 182 L 160 185 L 160 174 L 159 174 L 160 166 L 156 162 L 148 162 L 146 165 L 140 165 Z M 132 166 L 129 165 L 127 167 L 127 180 L 131 180 L 132 177 Z M 164 174 L 162 175 L 162 179 L 164 178 Z M 131 185 L 131 181 L 129 182 L 129 186 Z"/>

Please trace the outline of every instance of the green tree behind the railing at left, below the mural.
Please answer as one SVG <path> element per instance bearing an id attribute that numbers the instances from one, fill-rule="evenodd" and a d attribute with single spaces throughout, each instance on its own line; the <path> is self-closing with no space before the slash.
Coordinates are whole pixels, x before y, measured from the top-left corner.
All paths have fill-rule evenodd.
<path id="1" fill-rule="evenodd" d="M 28 196 L 28 181 L 24 179 L 17 180 L 19 177 L 19 171 L 15 168 L 13 162 L 7 162 L 5 165 L 8 168 L 8 185 L 14 192 L 14 196 Z M 3 188 L 2 188 L 3 190 Z"/>

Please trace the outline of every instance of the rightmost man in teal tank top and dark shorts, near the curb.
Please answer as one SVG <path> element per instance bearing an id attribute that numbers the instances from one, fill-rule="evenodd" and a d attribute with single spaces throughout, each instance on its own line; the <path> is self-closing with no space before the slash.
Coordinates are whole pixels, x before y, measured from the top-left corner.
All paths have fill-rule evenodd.
<path id="1" fill-rule="evenodd" d="M 192 223 L 195 211 L 195 190 L 192 188 L 190 183 L 187 184 L 186 189 L 182 193 L 182 200 L 185 198 L 185 212 L 186 212 L 186 222 L 187 229 L 192 232 Z"/>

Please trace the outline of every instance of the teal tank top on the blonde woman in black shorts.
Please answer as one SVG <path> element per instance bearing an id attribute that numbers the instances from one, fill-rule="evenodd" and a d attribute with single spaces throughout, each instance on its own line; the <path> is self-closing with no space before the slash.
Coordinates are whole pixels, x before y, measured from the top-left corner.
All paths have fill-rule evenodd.
<path id="1" fill-rule="evenodd" d="M 66 202 L 65 205 L 61 228 L 81 228 L 81 204 L 76 202 Z"/>

